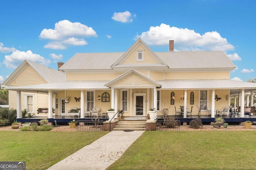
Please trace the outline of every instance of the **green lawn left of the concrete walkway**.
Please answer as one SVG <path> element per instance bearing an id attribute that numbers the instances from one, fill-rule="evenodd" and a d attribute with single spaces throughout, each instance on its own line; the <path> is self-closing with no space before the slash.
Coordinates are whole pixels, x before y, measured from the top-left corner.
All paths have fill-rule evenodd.
<path id="1" fill-rule="evenodd" d="M 45 170 L 108 132 L 1 131 L 0 161 L 26 161 Z"/>

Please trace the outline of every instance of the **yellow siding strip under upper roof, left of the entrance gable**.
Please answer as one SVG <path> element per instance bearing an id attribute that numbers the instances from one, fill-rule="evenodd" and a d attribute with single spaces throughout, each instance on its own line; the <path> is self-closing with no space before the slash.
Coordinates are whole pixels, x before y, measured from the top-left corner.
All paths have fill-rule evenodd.
<path id="1" fill-rule="evenodd" d="M 117 73 L 67 73 L 66 80 L 113 80 Z"/>

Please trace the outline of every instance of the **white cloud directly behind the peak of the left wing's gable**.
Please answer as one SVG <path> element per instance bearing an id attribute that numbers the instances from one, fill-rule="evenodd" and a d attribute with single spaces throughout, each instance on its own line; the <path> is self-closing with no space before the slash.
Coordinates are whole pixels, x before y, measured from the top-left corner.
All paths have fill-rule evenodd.
<path id="1" fill-rule="evenodd" d="M 38 54 L 33 54 L 30 50 L 27 52 L 16 50 L 13 51 L 11 55 L 6 55 L 4 57 L 3 64 L 5 64 L 7 68 L 17 68 L 24 60 L 33 61 L 43 65 L 48 65 L 51 63 L 49 59 L 45 59 Z"/>

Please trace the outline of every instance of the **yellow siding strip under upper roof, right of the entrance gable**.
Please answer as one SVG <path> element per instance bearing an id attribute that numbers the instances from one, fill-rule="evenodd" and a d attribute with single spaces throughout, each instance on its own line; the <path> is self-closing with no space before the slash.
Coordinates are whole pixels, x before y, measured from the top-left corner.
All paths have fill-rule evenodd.
<path id="1" fill-rule="evenodd" d="M 165 72 L 165 80 L 176 79 L 229 79 L 229 72 Z"/>

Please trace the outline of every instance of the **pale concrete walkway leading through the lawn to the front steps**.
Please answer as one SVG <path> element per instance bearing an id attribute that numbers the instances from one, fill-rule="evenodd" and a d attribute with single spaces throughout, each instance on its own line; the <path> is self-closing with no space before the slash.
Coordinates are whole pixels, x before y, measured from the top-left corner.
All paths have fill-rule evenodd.
<path id="1" fill-rule="evenodd" d="M 48 170 L 105 170 L 118 160 L 142 133 L 144 131 L 111 131 Z"/>

